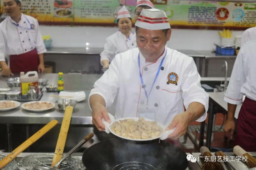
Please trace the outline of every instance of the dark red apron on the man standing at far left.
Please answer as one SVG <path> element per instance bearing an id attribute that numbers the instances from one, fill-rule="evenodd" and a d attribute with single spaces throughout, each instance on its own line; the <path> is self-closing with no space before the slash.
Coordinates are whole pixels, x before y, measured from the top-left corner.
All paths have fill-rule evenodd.
<path id="1" fill-rule="evenodd" d="M 10 55 L 10 69 L 12 73 L 38 71 L 39 59 L 37 50 L 19 55 Z"/>

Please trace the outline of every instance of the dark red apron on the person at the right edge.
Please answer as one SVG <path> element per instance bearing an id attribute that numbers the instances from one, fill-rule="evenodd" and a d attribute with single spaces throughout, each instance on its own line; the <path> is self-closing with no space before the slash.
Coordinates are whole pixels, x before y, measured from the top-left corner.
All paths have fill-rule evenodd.
<path id="1" fill-rule="evenodd" d="M 235 145 L 245 151 L 256 151 L 256 101 L 247 97 L 238 115 Z"/>

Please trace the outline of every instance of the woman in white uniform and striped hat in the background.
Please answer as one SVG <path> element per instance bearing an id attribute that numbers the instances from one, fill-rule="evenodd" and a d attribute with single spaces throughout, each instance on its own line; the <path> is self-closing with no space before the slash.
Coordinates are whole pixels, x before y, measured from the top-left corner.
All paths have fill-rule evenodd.
<path id="1" fill-rule="evenodd" d="M 136 34 L 131 32 L 131 15 L 123 6 L 117 16 L 119 30 L 106 38 L 104 50 L 100 53 L 100 63 L 103 68 L 108 68 L 115 55 L 129 49 L 136 48 Z"/>

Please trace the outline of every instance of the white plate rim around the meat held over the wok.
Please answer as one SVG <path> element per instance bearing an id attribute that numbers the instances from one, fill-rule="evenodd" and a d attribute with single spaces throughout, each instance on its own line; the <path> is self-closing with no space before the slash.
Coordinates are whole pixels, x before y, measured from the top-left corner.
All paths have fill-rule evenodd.
<path id="1" fill-rule="evenodd" d="M 120 118 L 120 119 L 116 119 L 114 122 L 119 122 L 120 120 L 125 120 L 125 119 L 134 119 L 134 121 L 138 121 L 138 120 L 139 120 L 139 117 L 135 117 L 135 118 L 134 118 L 134 117 Z M 143 119 L 145 119 L 146 121 L 155 121 L 155 120 L 146 119 L 146 118 L 143 118 Z M 114 123 L 114 122 L 113 122 L 113 123 Z M 163 134 L 165 133 L 165 126 L 164 126 L 163 124 L 157 122 L 157 125 L 159 125 L 159 126 L 162 128 L 162 133 L 160 133 L 159 136 L 157 136 L 157 137 L 155 137 L 155 138 L 149 138 L 149 139 L 131 139 L 131 138 L 126 138 L 126 137 L 117 135 L 115 132 L 113 132 L 113 131 L 111 130 L 111 126 L 112 126 L 113 123 L 111 123 L 111 125 L 109 126 L 109 131 L 110 131 L 111 133 L 113 133 L 114 135 L 116 135 L 116 136 L 118 136 L 118 137 L 120 137 L 120 138 L 123 138 L 123 139 L 127 139 L 127 140 L 134 140 L 134 141 L 148 141 L 148 140 L 154 140 L 154 139 L 160 138 L 160 137 L 163 136 Z"/>

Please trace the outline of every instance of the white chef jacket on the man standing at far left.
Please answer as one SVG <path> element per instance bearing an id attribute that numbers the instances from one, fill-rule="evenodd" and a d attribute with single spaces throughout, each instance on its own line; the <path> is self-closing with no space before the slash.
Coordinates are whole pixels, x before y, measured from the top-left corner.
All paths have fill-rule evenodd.
<path id="1" fill-rule="evenodd" d="M 46 52 L 37 19 L 22 14 L 18 23 L 11 17 L 0 23 L 0 61 L 5 61 L 4 55 L 24 54 L 34 48 L 38 54 Z"/>

